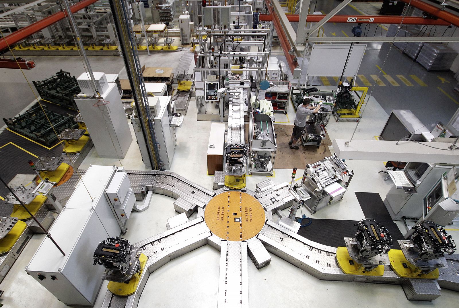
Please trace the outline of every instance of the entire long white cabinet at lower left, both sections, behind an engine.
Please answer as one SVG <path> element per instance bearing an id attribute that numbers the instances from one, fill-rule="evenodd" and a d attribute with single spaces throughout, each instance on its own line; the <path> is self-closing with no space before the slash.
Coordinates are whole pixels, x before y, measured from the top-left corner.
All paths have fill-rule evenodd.
<path id="1" fill-rule="evenodd" d="M 107 237 L 121 233 L 103 193 L 118 169 L 121 168 L 90 166 L 83 176 L 84 185 L 78 182 L 50 229 L 66 255 L 45 238 L 26 267 L 28 275 L 67 305 L 93 306 L 95 303 L 104 271 L 103 267 L 93 266 L 95 247 Z"/>

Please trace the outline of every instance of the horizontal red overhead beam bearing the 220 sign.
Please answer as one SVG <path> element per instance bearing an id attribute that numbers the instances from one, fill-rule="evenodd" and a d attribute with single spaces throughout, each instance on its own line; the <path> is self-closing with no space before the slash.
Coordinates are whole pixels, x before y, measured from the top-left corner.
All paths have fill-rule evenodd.
<path id="1" fill-rule="evenodd" d="M 408 0 L 409 1 L 409 0 Z M 412 0 L 413 1 L 413 0 Z M 433 15 L 433 14 L 432 14 Z M 300 16 L 298 14 L 287 14 L 287 19 L 290 22 L 298 22 Z M 319 22 L 324 18 L 325 15 L 308 15 L 306 18 L 307 22 Z M 272 21 L 270 14 L 260 14 L 260 21 L 270 22 Z M 405 17 L 403 16 L 367 16 L 367 15 L 335 15 L 331 17 L 328 22 L 353 22 L 353 23 L 395 23 L 405 25 L 437 25 L 437 26 L 449 26 L 451 22 L 444 21 L 442 19 L 430 19 L 422 17 Z"/>

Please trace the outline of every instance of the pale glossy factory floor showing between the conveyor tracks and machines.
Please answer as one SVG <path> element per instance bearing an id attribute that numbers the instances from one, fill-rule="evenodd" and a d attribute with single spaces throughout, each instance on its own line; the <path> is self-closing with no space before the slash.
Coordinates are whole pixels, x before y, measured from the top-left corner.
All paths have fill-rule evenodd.
<path id="1" fill-rule="evenodd" d="M 170 66 L 175 67 L 179 62 L 179 53 L 161 53 L 154 56 L 141 56 L 142 64 L 147 66 Z M 115 57 L 91 57 L 90 62 L 93 71 L 105 71 L 116 73 L 122 67 L 120 58 Z M 65 69 L 78 76 L 82 64 L 77 57 L 45 58 L 40 59 L 40 66 L 32 71 L 27 71 L 29 79 L 44 78 L 50 74 Z M 121 71 L 121 76 L 124 75 Z M 1 74 L 0 76 L 5 76 Z M 3 80 L 5 77 L 3 77 Z M 23 82 L 23 77 L 17 71 L 8 71 L 10 82 Z M 333 89 L 324 87 L 323 89 Z M 28 91 L 27 88 L 22 89 Z M 387 119 L 387 112 L 372 97 L 367 105 L 364 118 L 359 122 L 355 132 L 355 139 L 373 139 L 381 132 L 381 128 Z M 27 105 L 26 103 L 24 103 Z M 287 124 L 293 121 L 295 112 L 291 105 L 288 106 L 288 114 L 276 113 L 278 124 Z M 128 121 L 128 120 L 126 120 Z M 213 176 L 207 176 L 206 153 L 208 134 L 211 122 L 196 121 L 196 103 L 190 101 L 187 115 L 183 126 L 177 130 L 177 148 L 171 170 L 182 176 L 197 182 L 204 187 L 211 188 Z M 352 136 L 356 128 L 355 122 L 335 122 L 333 119 L 327 126 L 330 138 L 345 138 Z M 288 134 L 290 132 L 287 132 Z M 295 150 L 292 150 L 295 155 Z M 316 214 L 310 214 L 307 209 L 300 212 L 314 218 L 360 220 L 364 218 L 354 192 L 378 192 L 381 198 L 385 198 L 391 184 L 383 181 L 385 175 L 378 174 L 378 170 L 384 168 L 382 162 L 347 160 L 347 165 L 354 170 L 355 176 L 346 192 L 344 199 L 336 204 L 320 210 Z M 12 162 L 15 163 L 15 162 Z M 131 144 L 124 159 L 101 159 L 93 148 L 84 160 L 80 168 L 88 168 L 90 165 L 123 165 L 126 169 L 143 170 L 140 151 L 135 143 Z M 277 184 L 290 181 L 291 170 L 275 169 L 275 177 L 271 179 Z M 304 170 L 298 170 L 302 175 Z M 298 176 L 299 177 L 299 176 Z M 255 184 L 266 180 L 265 176 L 247 177 L 247 188 L 254 190 Z M 129 228 L 126 238 L 130 242 L 137 242 L 159 232 L 166 231 L 166 220 L 174 216 L 173 199 L 162 195 L 154 195 L 150 208 L 143 213 L 134 212 L 128 221 Z M 190 219 L 194 218 L 193 214 Z M 377 218 L 376 218 L 377 219 Z M 317 228 L 316 231 L 327 236 L 327 230 Z M 403 232 L 403 225 L 400 225 Z M 459 239 L 459 224 L 450 226 L 455 229 L 449 231 L 453 237 Z M 0 299 L 8 308 L 23 307 L 46 307 L 64 308 L 63 303 L 50 294 L 44 287 L 39 285 L 25 272 L 35 251 L 39 247 L 44 235 L 34 235 L 28 242 L 23 252 L 19 255 L 16 263 L 12 266 L 5 280 L 0 284 L 0 289 L 5 293 Z M 95 247 L 88 247 L 95 249 Z M 146 307 L 216 307 L 218 291 L 220 253 L 210 246 L 200 247 L 173 261 L 165 264 L 159 270 L 150 275 L 144 292 L 140 297 L 139 308 Z M 403 293 L 401 286 L 364 284 L 340 281 L 320 281 L 313 276 L 302 272 L 297 267 L 272 255 L 271 264 L 257 270 L 249 261 L 249 306 L 252 308 L 277 308 L 277 307 L 457 307 L 459 294 L 448 290 L 442 290 L 442 296 L 433 303 L 409 302 Z M 107 282 L 104 281 L 95 307 L 101 307 L 106 293 Z"/>

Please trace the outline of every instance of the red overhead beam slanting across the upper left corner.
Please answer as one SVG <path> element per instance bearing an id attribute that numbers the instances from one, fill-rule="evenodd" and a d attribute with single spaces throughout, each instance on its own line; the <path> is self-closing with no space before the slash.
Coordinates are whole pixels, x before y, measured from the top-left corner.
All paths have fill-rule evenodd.
<path id="1" fill-rule="evenodd" d="M 70 6 L 70 11 L 72 13 L 75 13 L 81 9 L 84 9 L 86 6 L 90 6 L 97 0 L 83 0 L 80 1 L 73 6 Z M 27 38 L 28 36 L 39 32 L 40 30 L 45 29 L 46 27 L 49 27 L 55 22 L 58 22 L 62 19 L 67 17 L 67 12 L 64 13 L 64 11 L 52 14 L 48 17 L 45 17 L 43 19 L 40 19 L 38 22 L 34 22 L 31 25 L 28 25 L 27 27 L 21 28 L 10 35 L 6 36 L 5 38 L 0 38 L 0 51 L 3 49 L 8 48 L 8 45 L 14 45 L 17 42 L 21 41 L 24 38 Z"/>

